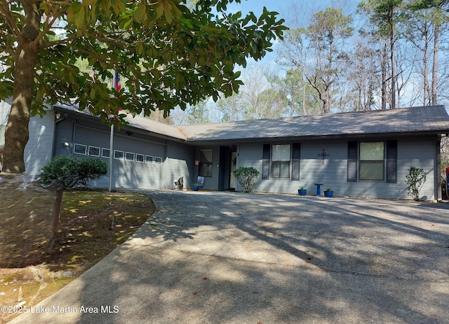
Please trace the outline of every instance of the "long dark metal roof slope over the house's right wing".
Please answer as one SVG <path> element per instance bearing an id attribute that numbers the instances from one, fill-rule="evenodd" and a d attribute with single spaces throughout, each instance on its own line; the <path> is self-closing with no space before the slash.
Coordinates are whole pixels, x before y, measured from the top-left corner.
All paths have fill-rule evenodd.
<path id="1" fill-rule="evenodd" d="M 408 132 L 449 132 L 444 106 L 387 111 L 329 113 L 294 118 L 242 120 L 182 126 L 188 141 L 227 141 L 290 137 L 344 136 Z"/>

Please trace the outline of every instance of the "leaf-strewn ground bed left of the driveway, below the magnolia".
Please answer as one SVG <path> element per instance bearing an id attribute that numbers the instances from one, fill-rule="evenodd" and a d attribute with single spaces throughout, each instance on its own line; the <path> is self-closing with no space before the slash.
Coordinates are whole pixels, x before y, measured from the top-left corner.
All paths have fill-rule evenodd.
<path id="1" fill-rule="evenodd" d="M 36 185 L 0 185 L 0 305 L 32 306 L 122 244 L 154 213 L 135 192 L 65 192 L 58 234 L 48 248 L 54 197 Z M 0 323 L 15 314 L 0 312 Z"/>

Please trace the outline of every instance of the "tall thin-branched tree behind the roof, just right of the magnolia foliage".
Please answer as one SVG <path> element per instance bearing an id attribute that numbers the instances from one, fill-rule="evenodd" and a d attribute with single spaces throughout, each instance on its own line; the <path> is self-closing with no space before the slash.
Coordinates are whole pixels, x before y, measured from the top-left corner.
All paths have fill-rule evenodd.
<path id="1" fill-rule="evenodd" d="M 341 100 L 335 98 L 335 90 L 349 58 L 346 41 L 353 31 L 351 21 L 351 15 L 344 15 L 342 9 L 327 8 L 314 13 L 307 27 L 291 27 L 283 41 L 281 57 L 285 64 L 302 71 L 318 94 L 321 113 L 330 113 L 333 104 Z"/>

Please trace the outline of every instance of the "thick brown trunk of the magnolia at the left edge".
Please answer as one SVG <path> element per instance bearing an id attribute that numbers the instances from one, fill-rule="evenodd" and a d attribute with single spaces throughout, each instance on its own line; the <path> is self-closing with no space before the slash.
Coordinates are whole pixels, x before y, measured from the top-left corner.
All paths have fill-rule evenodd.
<path id="1" fill-rule="evenodd" d="M 25 171 L 24 150 L 28 142 L 29 117 L 34 92 L 34 68 L 39 54 L 39 3 L 22 1 L 25 10 L 22 33 L 15 52 L 13 104 L 5 129 L 3 170 L 8 173 Z"/>

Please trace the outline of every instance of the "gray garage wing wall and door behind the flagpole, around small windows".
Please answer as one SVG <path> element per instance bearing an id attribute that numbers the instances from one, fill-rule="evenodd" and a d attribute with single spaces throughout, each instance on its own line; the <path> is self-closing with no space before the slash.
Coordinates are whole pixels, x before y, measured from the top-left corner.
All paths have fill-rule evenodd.
<path id="1" fill-rule="evenodd" d="M 106 125 L 90 124 L 81 125 L 74 119 L 67 119 L 57 125 L 55 139 L 55 155 L 69 157 L 88 157 L 74 153 L 74 144 L 100 148 L 100 160 L 108 165 L 108 174 L 102 178 L 91 181 L 90 186 L 97 188 L 109 188 L 109 158 L 102 157 L 102 148 L 109 149 L 110 129 Z M 63 146 L 62 143 L 69 143 Z M 136 160 L 117 160 L 114 158 L 114 150 L 126 153 L 134 153 L 159 157 L 161 163 L 138 162 Z M 88 152 L 87 152 L 88 153 Z M 182 145 L 182 143 L 164 143 L 161 139 L 140 139 L 135 136 L 114 132 L 114 149 L 112 159 L 112 188 L 141 188 L 141 189 L 173 189 L 175 179 L 185 176 L 185 183 L 192 183 L 191 174 L 194 170 L 194 148 Z"/>

